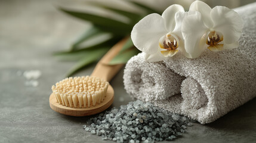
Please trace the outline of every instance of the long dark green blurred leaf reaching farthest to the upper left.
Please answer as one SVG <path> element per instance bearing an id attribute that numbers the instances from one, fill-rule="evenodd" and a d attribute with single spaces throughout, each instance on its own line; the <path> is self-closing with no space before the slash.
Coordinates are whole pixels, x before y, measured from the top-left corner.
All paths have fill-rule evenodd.
<path id="1" fill-rule="evenodd" d="M 107 32 L 116 32 L 124 35 L 124 33 L 129 33 L 132 28 L 132 26 L 127 23 L 122 23 L 121 21 L 113 20 L 111 18 L 101 17 L 100 15 L 65 10 L 64 8 L 60 8 L 60 10 L 74 17 L 81 18 L 82 20 L 90 21 L 99 29 Z"/>

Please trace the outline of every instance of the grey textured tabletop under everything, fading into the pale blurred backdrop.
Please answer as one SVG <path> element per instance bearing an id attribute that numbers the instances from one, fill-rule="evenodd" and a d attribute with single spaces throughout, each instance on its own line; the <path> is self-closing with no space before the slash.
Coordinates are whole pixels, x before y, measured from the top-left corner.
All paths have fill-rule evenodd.
<path id="1" fill-rule="evenodd" d="M 64 116 L 48 103 L 51 85 L 74 64 L 57 61 L 53 52 L 67 49 L 87 27 L 57 11 L 52 1 L 0 1 L 0 142 L 112 142 L 85 132 L 87 117 Z M 20 73 L 27 70 L 42 72 L 38 86 L 26 85 Z M 121 71 L 111 82 L 113 106 L 131 101 L 122 75 Z M 255 109 L 256 99 L 213 123 L 195 123 L 174 142 L 255 142 Z"/>

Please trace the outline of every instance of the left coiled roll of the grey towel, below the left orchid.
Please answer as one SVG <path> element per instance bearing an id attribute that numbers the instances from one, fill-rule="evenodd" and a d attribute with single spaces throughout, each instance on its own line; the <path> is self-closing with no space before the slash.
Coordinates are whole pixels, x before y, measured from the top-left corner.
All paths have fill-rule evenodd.
<path id="1" fill-rule="evenodd" d="M 142 54 L 142 53 L 141 53 Z M 165 100 L 180 93 L 185 77 L 170 72 L 164 63 L 147 63 L 143 55 L 129 60 L 125 68 L 124 83 L 128 94 L 143 101 Z"/>

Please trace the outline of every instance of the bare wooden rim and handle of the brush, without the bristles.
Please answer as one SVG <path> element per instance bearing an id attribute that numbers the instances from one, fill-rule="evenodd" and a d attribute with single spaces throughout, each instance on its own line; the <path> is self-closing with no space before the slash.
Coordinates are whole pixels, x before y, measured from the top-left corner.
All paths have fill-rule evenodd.
<path id="1" fill-rule="evenodd" d="M 100 77 L 106 81 L 110 81 L 113 76 L 124 66 L 124 64 L 117 65 L 109 65 L 108 63 L 112 60 L 115 55 L 119 53 L 122 46 L 124 46 L 125 42 L 128 38 L 122 39 L 122 41 L 116 43 L 95 66 L 94 71 L 92 71 L 91 76 Z M 95 106 L 87 107 L 87 108 L 79 108 L 79 107 L 66 107 L 62 104 L 59 104 L 54 96 L 54 94 L 50 95 L 49 102 L 50 107 L 61 114 L 66 114 L 69 116 L 90 116 L 92 114 L 100 113 L 101 111 L 106 110 L 113 103 L 114 100 L 114 89 L 111 85 L 107 88 L 107 95 L 104 98 L 103 102 L 100 104 L 96 104 Z"/>

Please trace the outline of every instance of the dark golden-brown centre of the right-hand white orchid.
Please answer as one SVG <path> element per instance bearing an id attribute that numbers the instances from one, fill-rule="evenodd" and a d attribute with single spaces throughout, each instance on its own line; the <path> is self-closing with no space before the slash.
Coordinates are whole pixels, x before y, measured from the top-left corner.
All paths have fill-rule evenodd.
<path id="1" fill-rule="evenodd" d="M 223 48 L 223 35 L 220 32 L 216 32 L 215 30 L 212 30 L 209 32 L 207 38 L 206 38 L 206 44 L 209 45 L 208 49 L 221 49 Z"/>

